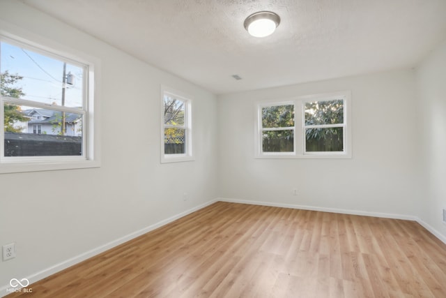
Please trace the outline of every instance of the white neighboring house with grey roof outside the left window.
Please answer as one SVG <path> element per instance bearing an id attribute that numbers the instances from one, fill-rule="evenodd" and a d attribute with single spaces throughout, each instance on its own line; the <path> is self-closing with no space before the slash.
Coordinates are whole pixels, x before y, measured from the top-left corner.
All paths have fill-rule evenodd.
<path id="1" fill-rule="evenodd" d="M 29 117 L 26 124 L 26 133 L 59 135 L 61 133 L 62 112 L 31 109 L 25 110 L 24 114 Z M 82 115 L 65 113 L 65 135 L 82 135 Z"/>

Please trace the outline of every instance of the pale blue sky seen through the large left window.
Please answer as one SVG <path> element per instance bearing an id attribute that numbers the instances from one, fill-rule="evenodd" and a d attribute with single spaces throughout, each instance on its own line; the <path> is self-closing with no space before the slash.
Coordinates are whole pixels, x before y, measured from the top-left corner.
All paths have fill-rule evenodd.
<path id="1" fill-rule="evenodd" d="M 6 70 L 23 77 L 15 85 L 22 88 L 23 99 L 61 105 L 63 61 L 1 42 L 0 71 Z M 66 87 L 65 105 L 68 107 L 82 106 L 83 71 L 82 67 L 67 63 L 66 73 L 74 75 L 74 84 Z"/>

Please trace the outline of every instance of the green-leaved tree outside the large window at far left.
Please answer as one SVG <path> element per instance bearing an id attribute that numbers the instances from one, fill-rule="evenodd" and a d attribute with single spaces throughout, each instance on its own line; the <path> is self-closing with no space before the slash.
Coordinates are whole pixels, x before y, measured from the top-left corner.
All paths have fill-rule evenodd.
<path id="1" fill-rule="evenodd" d="M 10 74 L 8 70 L 4 73 L 0 73 L 0 94 L 1 96 L 19 98 L 20 96 L 24 96 L 22 92 L 22 88 L 15 87 L 14 85 L 22 80 L 23 77 L 18 74 Z M 10 103 L 5 103 L 4 106 L 4 115 L 5 115 L 5 131 L 11 133 L 20 133 L 22 131 L 21 128 L 17 128 L 14 124 L 17 121 L 26 121 L 26 117 L 23 116 L 22 111 L 20 110 L 19 105 L 12 105 Z"/>

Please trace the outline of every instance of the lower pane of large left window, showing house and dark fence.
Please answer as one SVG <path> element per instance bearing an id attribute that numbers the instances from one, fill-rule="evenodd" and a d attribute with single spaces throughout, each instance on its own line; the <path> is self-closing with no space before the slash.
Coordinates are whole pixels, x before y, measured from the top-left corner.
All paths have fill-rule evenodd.
<path id="1" fill-rule="evenodd" d="M 8 103 L 3 109 L 5 156 L 82 155 L 82 114 Z"/>

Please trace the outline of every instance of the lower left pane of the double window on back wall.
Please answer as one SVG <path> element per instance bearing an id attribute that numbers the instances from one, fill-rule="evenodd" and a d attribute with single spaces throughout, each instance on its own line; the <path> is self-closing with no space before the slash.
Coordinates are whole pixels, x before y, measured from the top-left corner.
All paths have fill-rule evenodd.
<path id="1" fill-rule="evenodd" d="M 293 152 L 294 131 L 264 131 L 262 150 L 263 152 Z"/>

